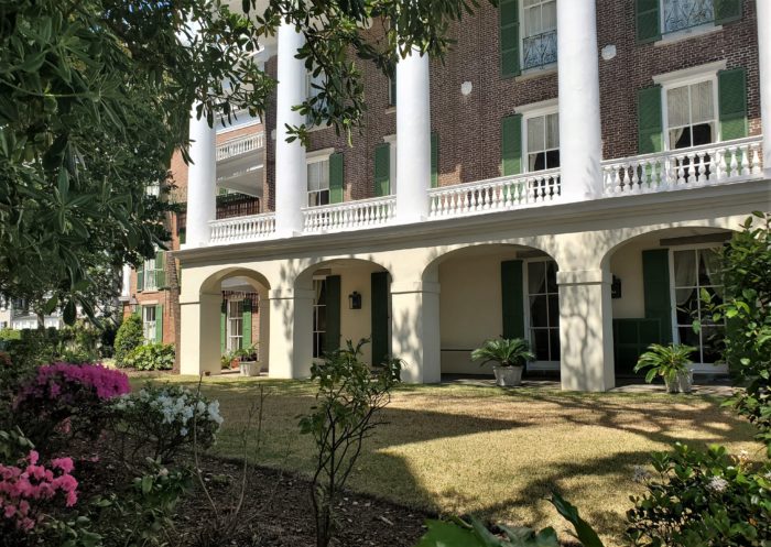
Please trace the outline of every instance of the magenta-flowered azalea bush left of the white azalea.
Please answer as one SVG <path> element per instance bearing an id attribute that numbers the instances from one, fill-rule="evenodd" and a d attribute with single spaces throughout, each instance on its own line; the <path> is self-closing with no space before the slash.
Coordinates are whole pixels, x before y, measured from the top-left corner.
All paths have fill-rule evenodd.
<path id="1" fill-rule="evenodd" d="M 99 435 L 109 411 L 105 402 L 129 391 L 129 379 L 120 371 L 54 363 L 40 367 L 22 384 L 12 417 L 35 445 L 53 451 L 62 438 Z"/>

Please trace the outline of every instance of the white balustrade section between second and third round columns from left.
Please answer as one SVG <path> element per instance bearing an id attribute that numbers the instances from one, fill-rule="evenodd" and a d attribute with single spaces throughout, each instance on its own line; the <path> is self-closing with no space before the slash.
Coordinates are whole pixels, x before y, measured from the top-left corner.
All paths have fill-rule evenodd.
<path id="1" fill-rule="evenodd" d="M 372 228 L 391 222 L 397 215 L 397 197 L 386 196 L 344 204 L 303 208 L 303 232 L 344 231 Z"/>

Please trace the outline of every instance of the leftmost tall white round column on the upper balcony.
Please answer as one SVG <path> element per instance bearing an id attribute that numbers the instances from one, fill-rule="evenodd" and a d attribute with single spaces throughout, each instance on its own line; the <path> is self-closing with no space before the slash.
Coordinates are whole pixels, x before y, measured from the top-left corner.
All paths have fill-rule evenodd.
<path id="1" fill-rule="evenodd" d="M 206 122 L 206 114 L 196 119 L 191 113 L 191 160 L 187 169 L 187 226 L 185 248 L 209 243 L 209 221 L 217 215 L 216 160 L 217 130 Z"/>

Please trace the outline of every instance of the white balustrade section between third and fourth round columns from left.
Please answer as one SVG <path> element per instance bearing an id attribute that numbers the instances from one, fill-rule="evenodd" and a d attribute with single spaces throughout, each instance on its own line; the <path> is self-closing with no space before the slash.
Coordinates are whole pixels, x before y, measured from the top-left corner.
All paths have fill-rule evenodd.
<path id="1" fill-rule="evenodd" d="M 547 205 L 560 198 L 560 169 L 456 184 L 428 190 L 430 219 Z"/>

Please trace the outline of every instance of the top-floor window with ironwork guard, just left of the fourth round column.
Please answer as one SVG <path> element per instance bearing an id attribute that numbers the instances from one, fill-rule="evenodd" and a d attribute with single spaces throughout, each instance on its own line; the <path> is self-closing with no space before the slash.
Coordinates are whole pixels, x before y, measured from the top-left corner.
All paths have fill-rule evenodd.
<path id="1" fill-rule="evenodd" d="M 557 0 L 523 0 L 521 30 L 523 70 L 556 63 Z"/>

